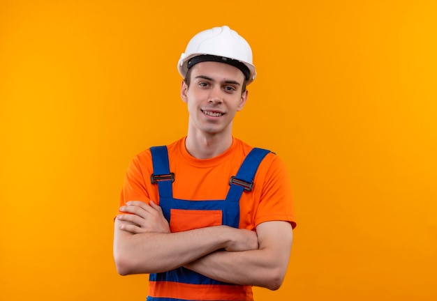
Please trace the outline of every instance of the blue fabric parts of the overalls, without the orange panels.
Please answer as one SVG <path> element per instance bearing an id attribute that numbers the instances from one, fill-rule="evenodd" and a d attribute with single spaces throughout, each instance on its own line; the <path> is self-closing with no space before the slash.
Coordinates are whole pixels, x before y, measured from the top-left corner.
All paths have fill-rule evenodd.
<path id="1" fill-rule="evenodd" d="M 239 226 L 239 199 L 244 190 L 251 191 L 253 178 L 258 166 L 269 153 L 262 148 L 253 148 L 246 156 L 236 176 L 232 176 L 229 182 L 230 189 L 224 200 L 189 201 L 174 199 L 172 194 L 172 182 L 175 174 L 170 173 L 168 151 L 166 146 L 154 146 L 150 148 L 154 173 L 151 182 L 158 185 L 159 206 L 163 210 L 165 219 L 170 223 L 170 210 L 221 210 L 222 224 L 238 228 Z M 225 183 L 223 183 L 225 184 Z M 177 268 L 168 272 L 149 275 L 149 281 L 175 281 L 186 284 L 225 284 L 225 282 L 210 279 L 197 272 L 186 268 Z M 147 300 L 163 300 L 162 298 L 147 298 Z M 172 299 L 174 300 L 174 299 Z"/>

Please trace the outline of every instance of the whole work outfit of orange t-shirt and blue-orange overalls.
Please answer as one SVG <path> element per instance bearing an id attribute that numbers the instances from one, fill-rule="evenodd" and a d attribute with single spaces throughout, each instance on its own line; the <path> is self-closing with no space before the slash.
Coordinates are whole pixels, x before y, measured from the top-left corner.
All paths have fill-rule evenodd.
<path id="1" fill-rule="evenodd" d="M 269 220 L 294 227 L 286 174 L 276 155 L 238 139 L 207 160 L 191 157 L 180 139 L 134 158 L 120 203 L 158 202 L 171 232 L 222 224 L 254 230 Z M 149 275 L 147 300 L 253 300 L 253 295 L 251 286 L 216 281 L 182 267 Z"/>

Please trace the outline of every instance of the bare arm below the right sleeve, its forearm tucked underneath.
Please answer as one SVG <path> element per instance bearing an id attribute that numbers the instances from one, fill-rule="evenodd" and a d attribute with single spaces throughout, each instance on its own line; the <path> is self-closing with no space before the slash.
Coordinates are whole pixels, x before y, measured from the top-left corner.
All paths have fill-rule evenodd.
<path id="1" fill-rule="evenodd" d="M 264 222 L 257 226 L 256 231 L 259 249 L 217 251 L 185 267 L 219 281 L 278 289 L 290 258 L 292 227 L 288 222 Z"/>

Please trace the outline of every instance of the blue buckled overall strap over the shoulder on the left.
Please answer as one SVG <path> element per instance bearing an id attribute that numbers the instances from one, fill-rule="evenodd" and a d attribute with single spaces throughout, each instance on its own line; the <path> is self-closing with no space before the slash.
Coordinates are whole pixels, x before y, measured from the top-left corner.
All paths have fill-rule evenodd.
<path id="1" fill-rule="evenodd" d="M 172 197 L 172 183 L 175 173 L 170 173 L 167 146 L 153 146 L 150 148 L 151 162 L 154 173 L 151 174 L 151 183 L 158 184 L 159 197 Z"/>

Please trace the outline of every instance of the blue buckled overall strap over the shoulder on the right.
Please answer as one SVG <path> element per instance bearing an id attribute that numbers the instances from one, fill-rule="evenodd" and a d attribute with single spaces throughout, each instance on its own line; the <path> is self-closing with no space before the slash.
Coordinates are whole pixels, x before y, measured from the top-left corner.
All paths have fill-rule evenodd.
<path id="1" fill-rule="evenodd" d="M 270 153 L 262 148 L 253 148 L 244 158 L 242 166 L 239 167 L 236 176 L 230 177 L 230 189 L 227 201 L 239 201 L 244 190 L 251 191 L 253 188 L 253 178 L 255 178 L 256 171 L 264 157 Z"/>

